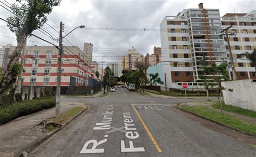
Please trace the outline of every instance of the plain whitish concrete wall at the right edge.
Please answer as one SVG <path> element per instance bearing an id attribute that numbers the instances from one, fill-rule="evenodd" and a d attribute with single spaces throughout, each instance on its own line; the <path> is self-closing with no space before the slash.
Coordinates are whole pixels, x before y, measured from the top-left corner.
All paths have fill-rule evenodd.
<path id="1" fill-rule="evenodd" d="M 250 79 L 235 80 L 221 82 L 221 85 L 233 89 L 233 92 L 223 90 L 225 104 L 256 111 L 256 82 Z"/>

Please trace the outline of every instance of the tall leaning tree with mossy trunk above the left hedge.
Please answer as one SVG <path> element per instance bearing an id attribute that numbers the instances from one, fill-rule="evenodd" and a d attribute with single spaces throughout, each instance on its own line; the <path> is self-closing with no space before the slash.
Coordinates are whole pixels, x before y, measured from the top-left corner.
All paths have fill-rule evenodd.
<path id="1" fill-rule="evenodd" d="M 17 47 L 3 74 L 0 84 L 0 94 L 11 88 L 17 80 L 17 76 L 22 72 L 22 65 L 18 60 L 26 39 L 33 31 L 44 25 L 47 20 L 46 14 L 50 14 L 53 6 L 59 4 L 60 1 L 50 0 L 28 0 L 22 5 L 12 4 L 11 10 L 15 15 L 7 18 L 7 25 L 16 35 Z"/>

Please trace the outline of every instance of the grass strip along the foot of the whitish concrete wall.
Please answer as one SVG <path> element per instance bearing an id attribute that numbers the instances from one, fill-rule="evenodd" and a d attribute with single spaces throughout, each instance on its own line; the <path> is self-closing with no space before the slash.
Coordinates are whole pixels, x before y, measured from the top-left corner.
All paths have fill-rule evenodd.
<path id="1" fill-rule="evenodd" d="M 212 107 L 214 109 L 220 109 L 220 104 L 215 103 L 215 104 L 212 105 Z M 238 108 L 238 107 L 231 106 L 231 105 L 225 105 L 224 102 L 223 102 L 223 110 L 228 111 L 228 112 L 238 113 L 240 115 L 244 115 L 244 116 L 248 116 L 248 117 L 252 117 L 252 118 L 256 118 L 256 112 L 255 111 Z"/>

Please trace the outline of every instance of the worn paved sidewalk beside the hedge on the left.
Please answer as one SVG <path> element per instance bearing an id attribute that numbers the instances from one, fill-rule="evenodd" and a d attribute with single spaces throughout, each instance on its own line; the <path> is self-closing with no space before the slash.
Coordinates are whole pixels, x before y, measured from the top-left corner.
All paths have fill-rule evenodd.
<path id="1" fill-rule="evenodd" d="M 60 102 L 60 113 L 68 111 L 74 105 L 69 101 Z M 83 105 L 83 104 L 78 104 Z M 17 156 L 23 150 L 47 137 L 47 134 L 35 129 L 41 119 L 55 116 L 55 108 L 42 110 L 28 116 L 19 117 L 9 123 L 0 125 L 0 156 Z"/>

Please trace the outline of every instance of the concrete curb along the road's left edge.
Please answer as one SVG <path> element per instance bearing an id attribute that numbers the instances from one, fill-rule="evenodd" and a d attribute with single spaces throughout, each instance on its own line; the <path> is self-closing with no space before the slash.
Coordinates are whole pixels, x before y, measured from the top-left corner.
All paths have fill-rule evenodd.
<path id="1" fill-rule="evenodd" d="M 52 132 L 48 133 L 45 138 L 36 141 L 36 143 L 33 144 L 32 146 L 30 146 L 27 150 L 22 151 L 22 152 L 20 152 L 21 154 L 17 154 L 17 155 L 15 155 L 15 156 L 26 156 L 26 154 L 24 154 L 24 152 L 25 152 L 25 153 L 27 153 L 27 152 L 28 152 L 28 153 L 32 152 L 35 148 L 39 147 L 44 141 L 50 139 L 53 135 L 55 135 L 55 134 L 58 133 L 59 131 L 65 129 L 65 127 L 68 126 L 68 124 L 70 124 L 71 122 L 73 122 L 73 120 L 76 120 L 77 118 L 79 118 L 79 116 L 83 115 L 83 113 L 85 113 L 85 112 L 88 111 L 89 109 L 90 109 L 89 106 L 86 105 L 86 106 L 85 106 L 85 109 L 84 109 L 83 111 L 80 111 L 79 113 L 77 113 L 76 116 L 72 117 L 72 118 L 71 118 L 70 120 L 68 120 L 66 123 L 62 124 L 62 126 L 60 126 L 59 128 L 53 130 Z"/>

